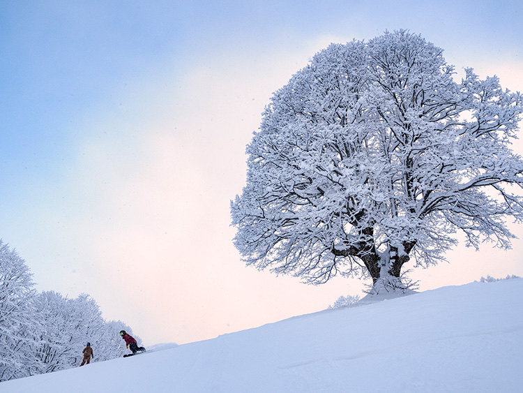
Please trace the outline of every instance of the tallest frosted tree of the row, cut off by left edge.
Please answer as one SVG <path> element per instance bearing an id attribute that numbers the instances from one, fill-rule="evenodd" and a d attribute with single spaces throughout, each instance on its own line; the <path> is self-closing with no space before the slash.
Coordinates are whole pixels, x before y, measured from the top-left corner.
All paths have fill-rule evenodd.
<path id="1" fill-rule="evenodd" d="M 0 240 L 0 382 L 29 376 L 33 285 L 25 261 Z"/>

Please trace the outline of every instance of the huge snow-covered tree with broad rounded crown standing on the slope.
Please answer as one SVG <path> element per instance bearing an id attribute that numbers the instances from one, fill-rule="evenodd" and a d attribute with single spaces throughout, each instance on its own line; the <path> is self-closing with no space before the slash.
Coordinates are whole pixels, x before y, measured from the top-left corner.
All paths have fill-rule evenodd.
<path id="1" fill-rule="evenodd" d="M 248 265 L 324 283 L 370 276 L 404 288 L 402 266 L 467 246 L 510 247 L 523 218 L 523 161 L 510 149 L 522 96 L 408 31 L 332 44 L 273 94 L 231 203 Z"/>

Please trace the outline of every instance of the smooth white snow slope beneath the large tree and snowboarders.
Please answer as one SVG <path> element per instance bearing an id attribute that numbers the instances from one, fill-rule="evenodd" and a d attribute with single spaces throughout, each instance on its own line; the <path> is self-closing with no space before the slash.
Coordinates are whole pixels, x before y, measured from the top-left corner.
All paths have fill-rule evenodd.
<path id="1" fill-rule="evenodd" d="M 0 392 L 523 392 L 523 279 L 321 311 Z"/>

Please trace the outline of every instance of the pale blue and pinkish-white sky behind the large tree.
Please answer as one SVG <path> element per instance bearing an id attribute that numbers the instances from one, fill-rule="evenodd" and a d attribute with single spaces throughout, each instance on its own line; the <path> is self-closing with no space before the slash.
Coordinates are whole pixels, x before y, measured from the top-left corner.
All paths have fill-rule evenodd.
<path id="1" fill-rule="evenodd" d="M 421 34 L 458 71 L 472 66 L 521 91 L 522 10 L 521 1 L 1 1 L 0 238 L 39 290 L 89 293 L 146 344 L 326 308 L 361 283 L 276 278 L 244 267 L 232 246 L 229 200 L 245 184 L 245 144 L 272 92 L 328 43 L 386 29 Z M 511 253 L 458 249 L 449 265 L 413 276 L 428 289 L 523 275 L 519 242 Z"/>

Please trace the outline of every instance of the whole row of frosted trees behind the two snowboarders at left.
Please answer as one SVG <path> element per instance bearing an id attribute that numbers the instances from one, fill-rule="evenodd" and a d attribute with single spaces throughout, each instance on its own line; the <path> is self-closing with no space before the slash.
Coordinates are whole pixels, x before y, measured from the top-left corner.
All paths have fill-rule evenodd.
<path id="1" fill-rule="evenodd" d="M 0 240 L 0 382 L 79 365 L 90 342 L 93 361 L 123 355 L 119 331 L 89 295 L 76 299 L 36 292 L 32 274 L 17 252 Z"/>

